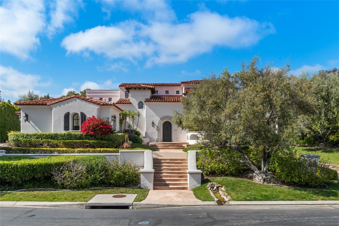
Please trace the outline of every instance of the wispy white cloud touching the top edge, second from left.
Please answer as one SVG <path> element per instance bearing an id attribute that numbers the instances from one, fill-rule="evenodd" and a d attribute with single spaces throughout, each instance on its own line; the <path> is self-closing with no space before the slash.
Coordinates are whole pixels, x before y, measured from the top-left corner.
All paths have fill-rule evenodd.
<path id="1" fill-rule="evenodd" d="M 73 22 L 73 17 L 78 15 L 82 1 L 54 1 L 51 2 L 51 21 L 47 25 L 47 36 L 51 38 L 62 30 L 64 24 Z"/>

